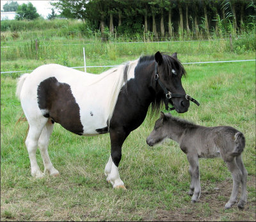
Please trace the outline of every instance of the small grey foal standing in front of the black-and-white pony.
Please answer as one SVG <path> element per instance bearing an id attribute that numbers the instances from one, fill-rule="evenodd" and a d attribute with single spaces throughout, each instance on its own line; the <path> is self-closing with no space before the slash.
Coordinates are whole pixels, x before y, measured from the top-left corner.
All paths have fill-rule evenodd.
<path id="1" fill-rule="evenodd" d="M 203 127 L 161 112 L 161 118 L 156 121 L 147 143 L 154 146 L 165 138 L 179 143 L 181 150 L 187 155 L 191 176 L 189 195 L 193 195 L 192 203 L 198 201 L 201 193 L 198 158 L 221 157 L 227 163 L 233 178 L 232 194 L 225 208 L 229 209 L 237 202 L 240 183 L 241 199 L 237 207 L 244 208 L 247 171 L 241 157 L 245 146 L 242 132 L 228 126 Z"/>

